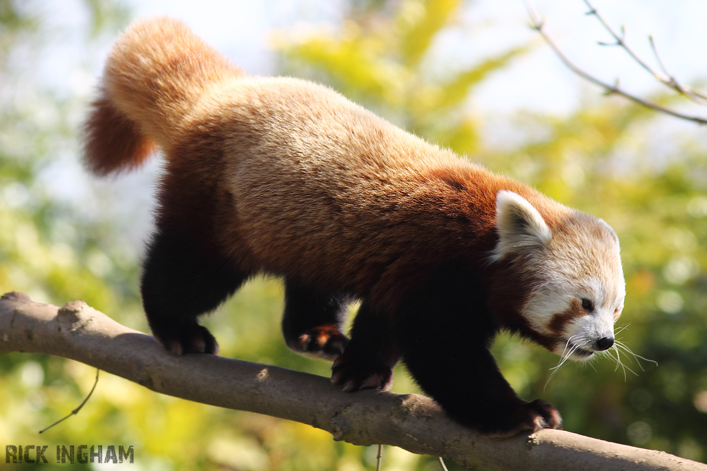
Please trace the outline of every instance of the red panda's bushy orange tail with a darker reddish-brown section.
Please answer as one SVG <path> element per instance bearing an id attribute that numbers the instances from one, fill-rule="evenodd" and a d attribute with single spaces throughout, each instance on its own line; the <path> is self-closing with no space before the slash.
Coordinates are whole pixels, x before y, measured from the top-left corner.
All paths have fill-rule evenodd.
<path id="1" fill-rule="evenodd" d="M 84 160 L 98 175 L 139 167 L 178 141 L 211 85 L 243 72 L 182 22 L 133 23 L 113 45 L 84 125 Z"/>

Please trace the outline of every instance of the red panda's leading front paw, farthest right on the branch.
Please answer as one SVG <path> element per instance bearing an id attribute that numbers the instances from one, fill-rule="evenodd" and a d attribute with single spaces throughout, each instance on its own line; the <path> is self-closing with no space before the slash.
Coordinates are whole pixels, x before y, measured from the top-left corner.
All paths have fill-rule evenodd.
<path id="1" fill-rule="evenodd" d="M 562 417 L 544 400 L 522 403 L 493 417 L 489 415 L 479 431 L 492 438 L 505 439 L 518 434 L 533 434 L 539 429 L 562 429 Z"/>

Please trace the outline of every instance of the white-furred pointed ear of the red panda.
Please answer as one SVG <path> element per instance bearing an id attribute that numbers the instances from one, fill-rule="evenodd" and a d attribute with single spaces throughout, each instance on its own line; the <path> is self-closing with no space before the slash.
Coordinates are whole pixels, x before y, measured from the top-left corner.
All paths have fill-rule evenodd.
<path id="1" fill-rule="evenodd" d="M 523 249 L 540 248 L 552 238 L 538 210 L 518 193 L 507 190 L 496 194 L 496 230 L 498 244 L 493 250 L 494 260 Z"/>

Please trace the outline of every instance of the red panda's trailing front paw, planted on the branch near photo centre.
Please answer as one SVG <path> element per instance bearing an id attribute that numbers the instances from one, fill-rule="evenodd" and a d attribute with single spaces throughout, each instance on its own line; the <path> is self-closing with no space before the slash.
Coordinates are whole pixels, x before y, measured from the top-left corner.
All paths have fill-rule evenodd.
<path id="1" fill-rule="evenodd" d="M 390 390 L 393 370 L 382 362 L 366 361 L 346 350 L 332 365 L 332 383 L 347 393 L 360 389 Z"/>

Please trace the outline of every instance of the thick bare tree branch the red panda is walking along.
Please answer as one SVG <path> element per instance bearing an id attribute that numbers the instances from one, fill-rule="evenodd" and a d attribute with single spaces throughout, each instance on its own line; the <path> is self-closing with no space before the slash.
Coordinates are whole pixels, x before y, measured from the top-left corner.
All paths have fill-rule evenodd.
<path id="1" fill-rule="evenodd" d="M 659 451 L 561 430 L 487 439 L 450 421 L 433 400 L 379 391 L 343 393 L 327 378 L 214 355 L 175 357 L 150 336 L 83 302 L 59 308 L 26 294 L 0 298 L 0 353 L 74 359 L 158 393 L 310 424 L 335 440 L 385 443 L 494 470 L 701 470 L 707 465 Z"/>

